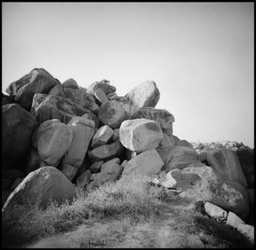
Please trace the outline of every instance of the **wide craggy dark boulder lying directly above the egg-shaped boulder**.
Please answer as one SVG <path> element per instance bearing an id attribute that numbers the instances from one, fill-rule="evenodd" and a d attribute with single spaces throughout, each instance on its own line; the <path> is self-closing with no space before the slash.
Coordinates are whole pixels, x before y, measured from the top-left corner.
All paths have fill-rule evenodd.
<path id="1" fill-rule="evenodd" d="M 73 116 L 83 116 L 86 113 L 90 113 L 93 120 L 98 122 L 97 116 L 91 111 L 83 109 L 73 101 L 58 95 L 35 94 L 30 112 L 36 116 L 39 124 L 54 118 L 67 124 Z"/>

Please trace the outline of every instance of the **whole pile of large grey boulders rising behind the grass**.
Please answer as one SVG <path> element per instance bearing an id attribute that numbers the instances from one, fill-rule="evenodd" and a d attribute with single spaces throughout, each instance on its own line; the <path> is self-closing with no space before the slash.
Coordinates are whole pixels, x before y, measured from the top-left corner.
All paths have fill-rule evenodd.
<path id="1" fill-rule="evenodd" d="M 166 171 L 166 189 L 181 190 L 238 214 L 253 197 L 253 152 L 218 149 L 202 159 L 173 134 L 174 116 L 157 109 L 160 91 L 146 81 L 125 96 L 107 80 L 87 88 L 34 69 L 2 94 L 3 210 L 26 199 L 44 207 L 71 201 L 73 185 L 90 190 L 121 176 L 155 177 Z M 250 203 L 249 203 L 250 201 Z M 221 213 L 223 214 L 223 213 Z M 226 213 L 224 213 L 226 214 Z M 223 215 L 222 215 L 223 216 Z"/>

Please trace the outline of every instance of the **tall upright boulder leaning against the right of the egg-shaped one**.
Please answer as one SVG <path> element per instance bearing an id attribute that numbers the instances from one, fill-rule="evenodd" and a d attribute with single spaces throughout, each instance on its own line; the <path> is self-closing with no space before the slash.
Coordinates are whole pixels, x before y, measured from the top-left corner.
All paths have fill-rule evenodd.
<path id="1" fill-rule="evenodd" d="M 73 130 L 73 140 L 62 159 L 62 164 L 80 168 L 95 133 L 95 124 L 83 117 L 73 117 L 68 126 Z"/>

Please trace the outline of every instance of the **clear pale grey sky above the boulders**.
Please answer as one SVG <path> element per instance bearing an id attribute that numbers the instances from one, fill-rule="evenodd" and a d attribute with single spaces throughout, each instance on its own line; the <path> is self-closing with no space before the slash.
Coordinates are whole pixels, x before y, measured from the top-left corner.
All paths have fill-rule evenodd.
<path id="1" fill-rule="evenodd" d="M 2 92 L 33 68 L 125 95 L 152 80 L 188 141 L 254 147 L 254 3 L 2 3 Z"/>

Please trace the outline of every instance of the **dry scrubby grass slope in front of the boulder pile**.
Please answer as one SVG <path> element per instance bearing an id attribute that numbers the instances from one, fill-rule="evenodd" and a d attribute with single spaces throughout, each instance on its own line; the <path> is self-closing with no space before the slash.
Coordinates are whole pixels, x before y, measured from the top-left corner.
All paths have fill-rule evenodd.
<path id="1" fill-rule="evenodd" d="M 5 211 L 2 247 L 26 246 L 84 224 L 86 233 L 75 234 L 73 247 L 253 247 L 240 232 L 209 219 L 202 202 L 178 198 L 146 177 L 75 189 L 78 196 L 71 204 L 50 202 L 44 210 L 26 204 Z M 159 230 L 162 222 L 168 230 Z"/>

